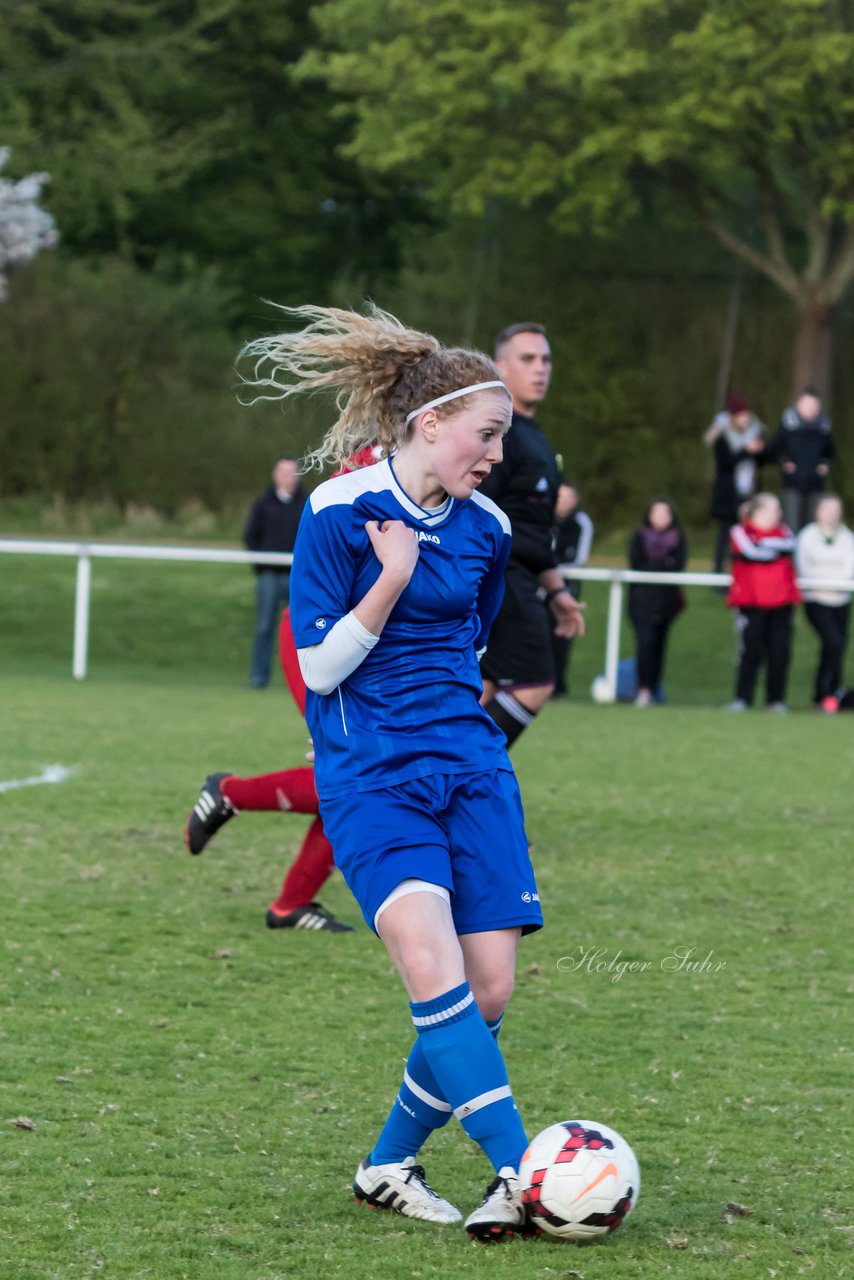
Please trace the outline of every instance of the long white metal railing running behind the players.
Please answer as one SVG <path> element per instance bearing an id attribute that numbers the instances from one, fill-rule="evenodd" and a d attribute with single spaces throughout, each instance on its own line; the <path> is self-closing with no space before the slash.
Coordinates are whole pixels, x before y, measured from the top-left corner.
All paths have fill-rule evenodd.
<path id="1" fill-rule="evenodd" d="M 123 543 L 49 541 L 32 538 L 0 538 L 0 553 L 13 556 L 72 556 L 77 558 L 74 593 L 74 640 L 72 675 L 85 680 L 88 666 L 90 602 L 93 559 L 192 561 L 206 564 L 291 564 L 293 557 L 284 552 L 237 552 L 227 548 L 124 545 Z M 608 698 L 617 696 L 620 666 L 620 628 L 625 584 L 671 582 L 675 586 L 729 586 L 729 573 L 644 573 L 631 568 L 575 568 L 562 564 L 566 580 L 609 582 L 608 625 L 606 628 L 604 678 Z M 802 586 L 816 590 L 854 591 L 854 581 L 837 582 L 825 579 L 799 579 Z"/>

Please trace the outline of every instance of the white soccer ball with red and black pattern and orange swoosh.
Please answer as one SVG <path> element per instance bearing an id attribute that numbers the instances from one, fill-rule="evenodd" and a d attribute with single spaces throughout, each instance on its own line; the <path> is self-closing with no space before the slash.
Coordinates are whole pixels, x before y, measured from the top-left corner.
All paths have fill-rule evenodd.
<path id="1" fill-rule="evenodd" d="M 558 1240 L 592 1240 L 616 1231 L 635 1207 L 640 1170 L 615 1129 L 563 1120 L 534 1138 L 519 1184 L 534 1226 Z"/>

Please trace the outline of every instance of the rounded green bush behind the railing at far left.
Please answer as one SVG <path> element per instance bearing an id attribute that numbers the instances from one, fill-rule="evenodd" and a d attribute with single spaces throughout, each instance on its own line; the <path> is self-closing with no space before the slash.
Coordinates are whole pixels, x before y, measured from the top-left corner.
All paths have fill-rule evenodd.
<path id="1" fill-rule="evenodd" d="M 243 506 L 300 449 L 279 407 L 237 401 L 233 298 L 120 259 L 44 257 L 0 307 L 0 497 L 177 513 Z"/>

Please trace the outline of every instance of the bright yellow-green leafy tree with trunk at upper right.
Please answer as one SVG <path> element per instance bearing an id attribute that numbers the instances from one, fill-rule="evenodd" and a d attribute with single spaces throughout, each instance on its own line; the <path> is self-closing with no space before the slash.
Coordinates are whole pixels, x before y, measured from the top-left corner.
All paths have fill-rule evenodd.
<path id="1" fill-rule="evenodd" d="M 469 212 L 548 198 L 597 232 L 661 198 L 794 301 L 794 381 L 827 383 L 854 278 L 849 4 L 325 0 L 315 18 L 328 51 L 303 69 L 350 101 L 362 165 Z"/>

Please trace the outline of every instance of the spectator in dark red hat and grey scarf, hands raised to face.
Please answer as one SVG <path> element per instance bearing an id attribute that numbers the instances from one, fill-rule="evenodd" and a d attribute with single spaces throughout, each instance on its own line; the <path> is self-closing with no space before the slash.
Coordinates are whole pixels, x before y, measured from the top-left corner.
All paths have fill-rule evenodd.
<path id="1" fill-rule="evenodd" d="M 723 572 L 730 545 L 730 529 L 739 518 L 739 507 L 757 492 L 757 470 L 762 461 L 764 426 L 744 396 L 730 396 L 723 412 L 703 435 L 714 454 L 712 518 L 717 520 L 714 572 Z"/>

